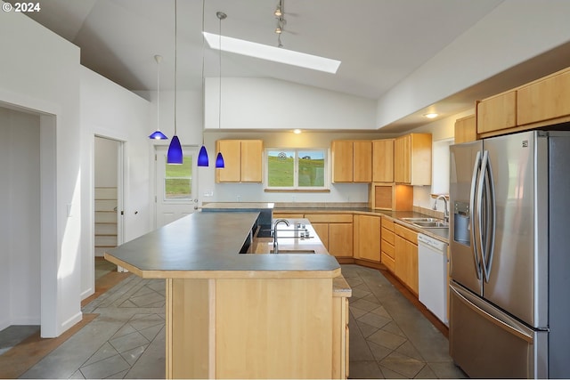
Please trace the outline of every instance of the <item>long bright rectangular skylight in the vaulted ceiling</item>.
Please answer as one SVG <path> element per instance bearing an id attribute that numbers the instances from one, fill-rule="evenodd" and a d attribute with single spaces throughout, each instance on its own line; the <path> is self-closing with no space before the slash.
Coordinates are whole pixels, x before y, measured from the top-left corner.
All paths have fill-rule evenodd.
<path id="1" fill-rule="evenodd" d="M 340 66 L 340 61 L 330 58 L 319 57 L 305 53 L 295 52 L 280 47 L 267 44 L 257 44 L 239 38 L 219 36 L 213 33 L 202 32 L 208 45 L 212 49 L 220 49 L 224 52 L 248 55 L 266 61 L 285 63 L 287 65 L 298 66 L 305 69 L 314 69 L 335 74 Z"/>

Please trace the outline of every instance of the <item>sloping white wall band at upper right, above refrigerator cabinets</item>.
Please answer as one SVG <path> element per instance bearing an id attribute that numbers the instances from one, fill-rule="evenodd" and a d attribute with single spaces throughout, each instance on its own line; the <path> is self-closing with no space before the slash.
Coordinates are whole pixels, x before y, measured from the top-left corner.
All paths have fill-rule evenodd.
<path id="1" fill-rule="evenodd" d="M 505 0 L 382 96 L 377 127 L 566 43 L 568 14 L 567 0 Z"/>

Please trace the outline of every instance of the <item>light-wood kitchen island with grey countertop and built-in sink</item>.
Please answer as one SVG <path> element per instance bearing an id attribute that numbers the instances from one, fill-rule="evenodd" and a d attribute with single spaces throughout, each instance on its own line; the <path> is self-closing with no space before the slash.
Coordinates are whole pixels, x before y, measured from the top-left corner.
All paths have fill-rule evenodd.
<path id="1" fill-rule="evenodd" d="M 284 237 L 286 254 L 240 254 L 248 239 L 267 246 L 258 214 L 191 214 L 105 254 L 166 279 L 167 378 L 346 377 L 350 288 L 337 260 L 316 236 L 311 248 Z"/>

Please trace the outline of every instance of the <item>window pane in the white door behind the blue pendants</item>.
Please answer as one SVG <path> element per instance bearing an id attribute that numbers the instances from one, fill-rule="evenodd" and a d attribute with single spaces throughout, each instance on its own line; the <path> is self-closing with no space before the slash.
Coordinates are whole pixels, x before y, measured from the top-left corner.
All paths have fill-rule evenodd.
<path id="1" fill-rule="evenodd" d="M 165 156 L 164 199 L 192 198 L 192 156 L 184 156 L 182 165 L 168 165 Z"/>

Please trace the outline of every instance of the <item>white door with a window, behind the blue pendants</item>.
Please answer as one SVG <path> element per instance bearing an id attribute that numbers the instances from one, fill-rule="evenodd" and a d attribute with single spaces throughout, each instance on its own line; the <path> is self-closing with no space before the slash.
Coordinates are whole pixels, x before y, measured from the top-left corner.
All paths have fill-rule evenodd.
<path id="1" fill-rule="evenodd" d="M 198 209 L 198 151 L 183 147 L 182 165 L 168 165 L 167 151 L 167 146 L 155 147 L 156 228 Z"/>

